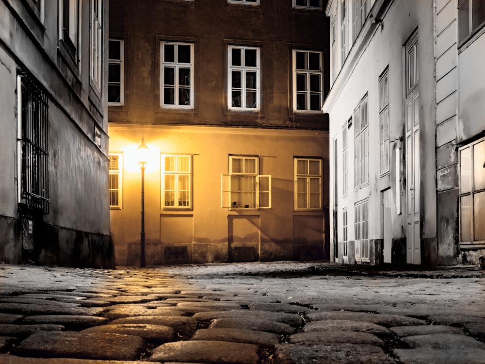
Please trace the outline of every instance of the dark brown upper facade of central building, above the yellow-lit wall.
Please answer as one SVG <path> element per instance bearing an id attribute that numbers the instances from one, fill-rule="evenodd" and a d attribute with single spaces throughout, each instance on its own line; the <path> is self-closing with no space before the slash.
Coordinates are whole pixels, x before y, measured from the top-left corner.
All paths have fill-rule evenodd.
<path id="1" fill-rule="evenodd" d="M 111 0 L 109 121 L 328 130 L 325 0 Z"/>

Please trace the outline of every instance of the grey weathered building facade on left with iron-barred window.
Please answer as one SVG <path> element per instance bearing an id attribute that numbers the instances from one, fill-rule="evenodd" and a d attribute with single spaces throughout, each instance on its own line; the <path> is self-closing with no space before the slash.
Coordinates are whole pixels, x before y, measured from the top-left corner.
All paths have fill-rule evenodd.
<path id="1" fill-rule="evenodd" d="M 114 267 L 108 2 L 0 9 L 0 262 Z"/>

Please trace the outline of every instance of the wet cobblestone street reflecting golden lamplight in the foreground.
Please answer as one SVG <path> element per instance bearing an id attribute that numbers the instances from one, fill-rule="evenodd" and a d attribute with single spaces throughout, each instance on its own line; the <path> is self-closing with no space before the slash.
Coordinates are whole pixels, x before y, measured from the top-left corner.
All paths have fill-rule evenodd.
<path id="1" fill-rule="evenodd" d="M 485 271 L 0 265 L 0 363 L 485 363 Z"/>

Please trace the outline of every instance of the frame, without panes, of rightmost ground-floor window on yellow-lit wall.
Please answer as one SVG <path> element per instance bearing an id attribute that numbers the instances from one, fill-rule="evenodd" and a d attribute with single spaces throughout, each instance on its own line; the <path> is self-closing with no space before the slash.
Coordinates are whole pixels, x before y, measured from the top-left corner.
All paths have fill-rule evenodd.
<path id="1" fill-rule="evenodd" d="M 310 174 L 309 168 L 307 173 L 298 173 L 298 162 L 318 162 L 319 173 Z M 298 190 L 298 180 L 304 179 L 305 191 Z M 318 179 L 319 191 L 318 191 L 318 206 L 311 206 L 311 195 L 315 194 L 315 191 L 311 191 L 311 181 Z M 294 157 L 293 158 L 293 206 L 295 211 L 322 211 L 322 197 L 323 197 L 323 160 L 322 158 L 311 157 Z M 305 207 L 298 206 L 298 195 L 305 195 Z"/>

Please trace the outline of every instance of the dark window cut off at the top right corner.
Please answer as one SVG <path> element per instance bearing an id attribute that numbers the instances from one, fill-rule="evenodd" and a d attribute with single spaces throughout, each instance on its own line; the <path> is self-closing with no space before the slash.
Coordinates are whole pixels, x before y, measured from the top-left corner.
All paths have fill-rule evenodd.
<path id="1" fill-rule="evenodd" d="M 458 43 L 463 43 L 485 24 L 483 0 L 458 0 Z"/>

